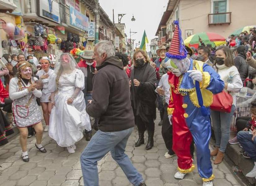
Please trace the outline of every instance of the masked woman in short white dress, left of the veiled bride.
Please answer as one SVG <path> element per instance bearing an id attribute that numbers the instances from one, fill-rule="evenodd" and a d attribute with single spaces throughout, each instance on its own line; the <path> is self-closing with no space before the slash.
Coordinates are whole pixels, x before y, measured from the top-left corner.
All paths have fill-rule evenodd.
<path id="1" fill-rule="evenodd" d="M 40 103 L 43 109 L 43 118 L 46 124 L 44 131 L 47 132 L 49 129 L 49 120 L 50 120 L 50 113 L 52 109 L 52 104 L 49 101 L 49 97 L 51 96 L 51 92 L 48 90 L 48 83 L 50 77 L 54 74 L 54 70 L 50 69 L 50 61 L 48 57 L 44 57 L 41 60 L 42 69 L 37 72 L 37 76 L 43 83 L 43 90 L 42 96 L 40 98 Z"/>

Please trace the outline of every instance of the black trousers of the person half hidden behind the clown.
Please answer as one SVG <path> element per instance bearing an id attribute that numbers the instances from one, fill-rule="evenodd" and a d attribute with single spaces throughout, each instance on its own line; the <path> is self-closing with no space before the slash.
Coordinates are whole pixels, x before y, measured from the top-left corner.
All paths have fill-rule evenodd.
<path id="1" fill-rule="evenodd" d="M 170 121 L 167 114 L 167 104 L 164 104 L 164 118 L 163 118 L 163 125 L 162 125 L 162 136 L 164 139 L 164 143 L 166 148 L 168 149 L 168 154 L 174 154 L 173 151 L 173 125 L 170 125 Z M 191 142 L 190 146 L 190 153 L 191 156 L 194 157 L 194 140 Z"/>

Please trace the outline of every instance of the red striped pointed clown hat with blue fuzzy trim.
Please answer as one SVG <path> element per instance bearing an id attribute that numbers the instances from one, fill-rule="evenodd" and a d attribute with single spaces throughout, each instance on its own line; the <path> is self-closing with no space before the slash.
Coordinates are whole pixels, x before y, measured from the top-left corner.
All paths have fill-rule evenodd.
<path id="1" fill-rule="evenodd" d="M 181 37 L 181 29 L 179 28 L 179 21 L 173 22 L 175 25 L 173 39 L 169 51 L 166 53 L 166 56 L 171 59 L 182 60 L 187 57 L 187 51 Z"/>

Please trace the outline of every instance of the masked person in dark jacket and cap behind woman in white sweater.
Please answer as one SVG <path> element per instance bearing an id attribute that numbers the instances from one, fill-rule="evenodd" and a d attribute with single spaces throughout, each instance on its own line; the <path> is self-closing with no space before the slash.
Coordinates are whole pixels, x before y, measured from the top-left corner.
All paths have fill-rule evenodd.
<path id="1" fill-rule="evenodd" d="M 249 66 L 246 63 L 246 48 L 245 46 L 239 46 L 236 48 L 234 53 L 234 63 L 238 72 L 240 73 L 240 78 L 242 79 L 243 84 L 245 83 L 245 79 L 248 77 L 248 69 Z"/>

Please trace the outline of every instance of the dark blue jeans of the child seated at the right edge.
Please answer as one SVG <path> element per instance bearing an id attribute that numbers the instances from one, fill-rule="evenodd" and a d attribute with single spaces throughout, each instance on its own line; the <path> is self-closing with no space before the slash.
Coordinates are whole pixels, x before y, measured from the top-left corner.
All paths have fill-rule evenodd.
<path id="1" fill-rule="evenodd" d="M 249 131 L 239 131 L 237 133 L 237 139 L 243 146 L 245 152 L 249 157 L 256 162 L 256 138 L 252 140 L 253 135 L 249 134 Z"/>

